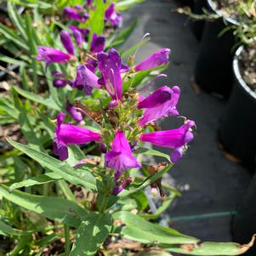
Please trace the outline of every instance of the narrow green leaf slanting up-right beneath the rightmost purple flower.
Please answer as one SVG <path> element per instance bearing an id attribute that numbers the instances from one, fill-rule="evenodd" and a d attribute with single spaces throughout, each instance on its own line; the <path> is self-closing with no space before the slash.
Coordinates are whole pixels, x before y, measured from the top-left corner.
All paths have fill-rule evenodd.
<path id="1" fill-rule="evenodd" d="M 132 189 L 130 191 L 126 191 L 123 190 L 120 194 L 118 194 L 117 196 L 131 196 L 134 193 L 136 193 L 137 191 L 141 191 L 144 190 L 145 187 L 147 187 L 148 185 L 151 185 L 151 183 L 155 182 L 157 179 L 161 178 L 163 174 L 167 173 L 168 170 L 170 168 L 172 168 L 174 166 L 174 163 L 170 163 L 168 164 L 168 166 L 164 169 L 162 169 L 162 171 L 156 173 L 156 174 L 152 174 L 151 176 L 147 177 L 141 184 L 136 185 L 135 189 Z"/>

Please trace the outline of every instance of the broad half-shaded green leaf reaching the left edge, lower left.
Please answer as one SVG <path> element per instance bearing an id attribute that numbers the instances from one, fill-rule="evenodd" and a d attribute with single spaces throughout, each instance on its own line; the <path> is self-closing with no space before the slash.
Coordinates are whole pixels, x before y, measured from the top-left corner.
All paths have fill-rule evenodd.
<path id="1" fill-rule="evenodd" d="M 22 208 L 42 214 L 48 219 L 60 221 L 65 225 L 77 227 L 87 212 L 64 198 L 51 196 L 35 196 L 21 191 L 9 192 L 9 187 L 0 185 L 0 195 Z"/>

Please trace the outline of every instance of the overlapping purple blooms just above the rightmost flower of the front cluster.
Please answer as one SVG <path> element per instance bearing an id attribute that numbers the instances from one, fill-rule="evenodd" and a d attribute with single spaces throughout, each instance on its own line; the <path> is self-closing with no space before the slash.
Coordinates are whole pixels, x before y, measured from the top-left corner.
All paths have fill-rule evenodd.
<path id="1" fill-rule="evenodd" d="M 144 100 L 141 100 L 137 108 L 145 109 L 145 112 L 143 117 L 139 118 L 139 125 L 144 126 L 161 117 L 178 116 L 179 112 L 176 109 L 176 105 L 179 100 L 179 93 L 178 86 L 173 88 L 162 86 Z"/>

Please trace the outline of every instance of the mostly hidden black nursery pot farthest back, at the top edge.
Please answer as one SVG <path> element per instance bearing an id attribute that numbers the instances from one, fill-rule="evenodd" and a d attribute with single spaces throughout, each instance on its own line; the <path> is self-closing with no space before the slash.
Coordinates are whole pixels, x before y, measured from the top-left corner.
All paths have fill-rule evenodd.
<path id="1" fill-rule="evenodd" d="M 194 14 L 202 14 L 202 9 L 208 9 L 207 0 L 195 0 L 193 6 Z M 191 23 L 191 31 L 198 41 L 202 39 L 202 32 L 205 25 L 205 20 L 193 20 Z"/>

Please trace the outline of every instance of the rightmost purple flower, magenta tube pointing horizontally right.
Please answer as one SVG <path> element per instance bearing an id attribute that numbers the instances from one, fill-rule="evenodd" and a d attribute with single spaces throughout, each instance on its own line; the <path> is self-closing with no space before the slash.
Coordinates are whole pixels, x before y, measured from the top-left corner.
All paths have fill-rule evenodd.
<path id="1" fill-rule="evenodd" d="M 140 134 L 139 139 L 143 142 L 150 142 L 153 145 L 173 149 L 171 161 L 177 162 L 183 154 L 184 146 L 194 138 L 191 132 L 193 126 L 195 126 L 195 122 L 187 120 L 185 124 L 178 129 Z"/>

